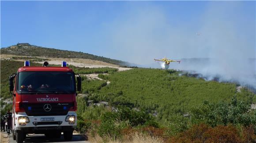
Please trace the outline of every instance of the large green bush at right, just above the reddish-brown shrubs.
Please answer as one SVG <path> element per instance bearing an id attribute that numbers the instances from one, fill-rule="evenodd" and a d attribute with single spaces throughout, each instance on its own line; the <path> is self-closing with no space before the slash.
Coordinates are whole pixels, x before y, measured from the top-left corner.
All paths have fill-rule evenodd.
<path id="1" fill-rule="evenodd" d="M 231 103 L 224 101 L 209 103 L 205 101 L 200 106 L 191 108 L 191 122 L 193 124 L 205 122 L 212 127 L 216 125 L 256 125 L 256 111 L 249 112 L 250 106 L 243 101 L 237 101 L 233 96 Z"/>

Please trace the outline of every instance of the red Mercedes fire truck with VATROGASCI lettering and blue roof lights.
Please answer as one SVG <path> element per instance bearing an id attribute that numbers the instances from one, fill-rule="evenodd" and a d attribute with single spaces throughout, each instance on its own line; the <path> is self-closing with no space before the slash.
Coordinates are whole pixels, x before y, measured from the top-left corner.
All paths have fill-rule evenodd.
<path id="1" fill-rule="evenodd" d="M 13 95 L 12 137 L 17 143 L 22 143 L 28 133 L 60 138 L 63 132 L 65 140 L 72 139 L 77 123 L 75 96 L 81 90 L 81 77 L 65 61 L 61 67 L 49 67 L 48 62 L 32 67 L 25 61 L 11 74 L 9 83 Z"/>

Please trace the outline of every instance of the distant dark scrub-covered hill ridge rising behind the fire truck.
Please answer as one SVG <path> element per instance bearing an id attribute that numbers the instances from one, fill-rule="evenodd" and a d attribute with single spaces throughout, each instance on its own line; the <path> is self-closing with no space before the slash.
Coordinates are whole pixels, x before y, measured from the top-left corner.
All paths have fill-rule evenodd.
<path id="1" fill-rule="evenodd" d="M 110 64 L 116 65 L 126 65 L 124 61 L 114 60 L 106 57 L 96 56 L 93 54 L 75 52 L 69 50 L 59 50 L 53 48 L 46 48 L 41 46 L 34 46 L 28 43 L 18 43 L 17 45 L 8 46 L 6 48 L 1 48 L 1 54 L 11 54 L 19 56 L 38 56 L 38 57 L 58 57 L 58 58 L 82 58 L 90 59 L 96 61 L 103 61 Z"/>

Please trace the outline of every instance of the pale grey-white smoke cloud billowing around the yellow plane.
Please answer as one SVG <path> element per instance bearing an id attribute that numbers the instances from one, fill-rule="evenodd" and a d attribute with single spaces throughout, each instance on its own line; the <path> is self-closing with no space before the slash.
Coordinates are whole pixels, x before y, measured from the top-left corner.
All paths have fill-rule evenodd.
<path id="1" fill-rule="evenodd" d="M 186 14 L 168 15 L 161 6 L 129 5 L 133 11 L 105 23 L 109 33 L 105 43 L 109 53 L 105 55 L 151 68 L 161 67 L 154 58 L 166 56 L 181 60 L 170 68 L 256 88 L 255 2 L 252 4 L 254 11 L 247 14 L 243 2 L 209 2 L 202 13 L 191 17 L 191 23 L 181 20 Z"/>

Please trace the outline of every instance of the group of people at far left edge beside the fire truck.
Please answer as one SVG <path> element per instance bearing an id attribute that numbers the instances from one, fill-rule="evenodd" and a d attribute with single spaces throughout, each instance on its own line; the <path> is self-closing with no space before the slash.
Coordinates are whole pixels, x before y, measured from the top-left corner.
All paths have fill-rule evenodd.
<path id="1" fill-rule="evenodd" d="M 10 112 L 10 110 L 7 111 L 7 113 L 3 116 L 1 116 L 1 132 L 7 132 L 8 135 L 10 135 L 10 132 L 12 132 L 11 130 L 11 121 L 12 121 L 12 117 L 11 117 L 12 113 Z"/>

